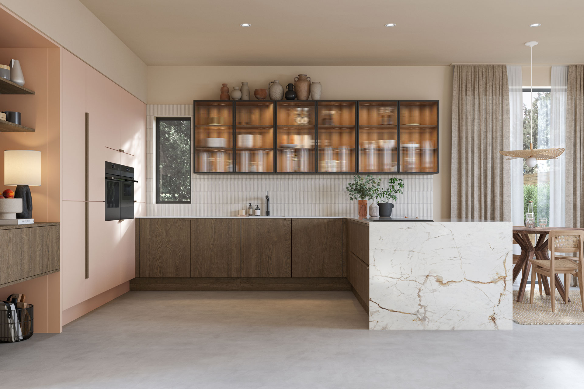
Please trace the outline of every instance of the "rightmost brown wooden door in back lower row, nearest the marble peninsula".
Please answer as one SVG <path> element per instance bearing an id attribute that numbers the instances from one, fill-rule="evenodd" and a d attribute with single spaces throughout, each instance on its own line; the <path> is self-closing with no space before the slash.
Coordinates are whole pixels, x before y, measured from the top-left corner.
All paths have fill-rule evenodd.
<path id="1" fill-rule="evenodd" d="M 292 220 L 292 276 L 342 277 L 342 219 Z"/>

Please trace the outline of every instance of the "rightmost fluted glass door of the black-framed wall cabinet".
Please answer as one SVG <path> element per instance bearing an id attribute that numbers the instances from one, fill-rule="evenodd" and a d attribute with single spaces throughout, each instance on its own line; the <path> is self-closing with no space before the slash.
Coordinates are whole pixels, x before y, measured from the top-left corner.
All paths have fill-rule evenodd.
<path id="1" fill-rule="evenodd" d="M 399 171 L 438 171 L 437 101 L 399 101 Z"/>

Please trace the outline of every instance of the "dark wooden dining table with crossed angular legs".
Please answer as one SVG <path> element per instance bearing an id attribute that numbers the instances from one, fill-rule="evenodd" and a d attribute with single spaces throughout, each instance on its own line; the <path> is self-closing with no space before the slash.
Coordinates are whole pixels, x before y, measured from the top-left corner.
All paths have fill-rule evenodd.
<path id="1" fill-rule="evenodd" d="M 550 260 L 548 256 L 548 239 L 547 236 L 550 231 L 570 231 L 570 230 L 584 230 L 584 228 L 572 228 L 572 227 L 524 227 L 524 226 L 513 226 L 513 239 L 521 247 L 521 255 L 513 268 L 513 283 L 515 279 L 521 273 L 521 282 L 519 283 L 519 293 L 517 293 L 517 301 L 523 301 L 523 296 L 525 295 L 525 288 L 527 286 L 527 278 L 529 278 L 529 272 L 531 270 L 531 262 L 529 258 L 536 257 L 537 260 Z M 537 234 L 536 245 L 533 246 L 531 243 L 531 234 Z M 550 296 L 550 282 L 545 276 L 540 276 L 540 282 L 545 290 L 545 295 Z M 531 282 L 535 282 L 531 280 Z M 559 276 L 555 275 L 555 287 L 558 289 L 559 295 L 562 296 L 564 300 L 565 290 L 564 284 L 559 279 Z M 569 285 L 568 285 L 569 290 Z M 569 298 L 568 298 L 569 301 Z"/>

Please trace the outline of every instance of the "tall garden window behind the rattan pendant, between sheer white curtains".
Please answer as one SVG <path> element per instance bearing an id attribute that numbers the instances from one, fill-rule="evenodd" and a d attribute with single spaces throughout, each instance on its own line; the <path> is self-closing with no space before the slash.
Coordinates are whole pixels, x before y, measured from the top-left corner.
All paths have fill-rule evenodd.
<path id="1" fill-rule="evenodd" d="M 550 148 L 550 89 L 523 89 L 523 149 L 528 150 L 530 143 L 534 149 Z M 533 136 L 531 120 L 533 120 Z M 534 167 L 523 162 L 523 214 L 527 213 L 529 201 L 537 219 L 545 218 L 550 222 L 550 160 L 540 160 Z"/>

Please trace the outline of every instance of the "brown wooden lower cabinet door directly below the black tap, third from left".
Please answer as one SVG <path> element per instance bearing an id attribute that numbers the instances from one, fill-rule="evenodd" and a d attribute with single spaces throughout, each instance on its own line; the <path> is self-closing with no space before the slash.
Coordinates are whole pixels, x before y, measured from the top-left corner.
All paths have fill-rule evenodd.
<path id="1" fill-rule="evenodd" d="M 241 276 L 291 276 L 292 220 L 241 220 Z"/>

